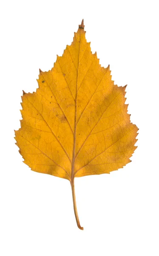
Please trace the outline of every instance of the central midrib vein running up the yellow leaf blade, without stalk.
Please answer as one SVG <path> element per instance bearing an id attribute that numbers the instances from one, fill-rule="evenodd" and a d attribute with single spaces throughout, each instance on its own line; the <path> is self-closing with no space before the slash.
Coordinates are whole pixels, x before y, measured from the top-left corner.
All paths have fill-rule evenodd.
<path id="1" fill-rule="evenodd" d="M 81 30 L 80 30 L 80 45 L 81 45 Z M 76 98 L 75 98 L 75 118 L 74 118 L 74 148 L 72 158 L 72 170 L 71 170 L 71 181 L 74 180 L 74 161 L 75 161 L 75 148 L 76 148 L 76 119 L 77 119 L 77 84 L 78 84 L 78 71 L 79 71 L 79 60 L 80 60 L 80 47 L 78 55 L 78 68 L 77 68 L 77 83 L 76 83 Z"/>

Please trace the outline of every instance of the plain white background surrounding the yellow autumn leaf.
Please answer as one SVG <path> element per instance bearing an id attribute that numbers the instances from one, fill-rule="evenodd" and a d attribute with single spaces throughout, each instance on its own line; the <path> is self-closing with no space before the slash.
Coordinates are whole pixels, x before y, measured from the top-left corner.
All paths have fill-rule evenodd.
<path id="1" fill-rule="evenodd" d="M 158 1 L 1 1 L 0 255 L 159 256 Z M 110 175 L 68 180 L 33 172 L 14 144 L 22 90 L 38 87 L 84 18 L 86 38 L 127 86 L 139 127 L 132 162 Z"/>

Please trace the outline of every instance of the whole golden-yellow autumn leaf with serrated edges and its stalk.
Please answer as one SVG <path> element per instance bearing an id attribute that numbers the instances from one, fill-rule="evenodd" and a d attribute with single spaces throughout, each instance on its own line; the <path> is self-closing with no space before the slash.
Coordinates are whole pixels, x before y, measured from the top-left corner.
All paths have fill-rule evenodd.
<path id="1" fill-rule="evenodd" d="M 83 20 L 71 46 L 48 72 L 40 70 L 36 93 L 23 92 L 17 146 L 31 170 L 68 179 L 80 229 L 74 177 L 110 173 L 127 163 L 138 128 L 130 122 L 125 88 L 99 65 L 85 39 Z"/>

